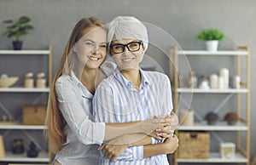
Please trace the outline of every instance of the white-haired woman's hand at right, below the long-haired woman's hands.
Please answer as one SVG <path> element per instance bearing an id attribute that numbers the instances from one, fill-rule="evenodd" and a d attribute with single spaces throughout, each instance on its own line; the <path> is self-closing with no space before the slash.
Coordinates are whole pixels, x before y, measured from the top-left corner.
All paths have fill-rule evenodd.
<path id="1" fill-rule="evenodd" d="M 163 145 L 163 150 L 166 152 L 166 154 L 172 154 L 177 150 L 178 147 L 177 136 L 173 134 L 172 137 L 167 138 L 166 141 L 160 145 Z"/>

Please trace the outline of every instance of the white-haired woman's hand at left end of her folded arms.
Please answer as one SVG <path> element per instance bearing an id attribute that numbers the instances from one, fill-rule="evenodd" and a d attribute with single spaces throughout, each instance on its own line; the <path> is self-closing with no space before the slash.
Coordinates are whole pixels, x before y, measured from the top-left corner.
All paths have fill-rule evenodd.
<path id="1" fill-rule="evenodd" d="M 113 143 L 113 142 L 112 142 Z M 108 159 L 110 159 L 112 162 L 120 156 L 127 148 L 129 145 L 124 144 L 124 145 L 110 145 L 110 144 L 104 144 L 102 145 L 99 150 L 102 151 L 102 154 L 104 156 L 107 156 Z"/>

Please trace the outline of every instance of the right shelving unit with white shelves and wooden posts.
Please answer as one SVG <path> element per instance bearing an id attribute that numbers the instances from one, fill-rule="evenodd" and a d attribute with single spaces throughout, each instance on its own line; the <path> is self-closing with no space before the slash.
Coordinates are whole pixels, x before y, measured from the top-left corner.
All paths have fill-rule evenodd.
<path id="1" fill-rule="evenodd" d="M 243 88 L 226 88 L 226 89 L 201 89 L 201 88 L 183 88 L 179 87 L 179 56 L 183 55 L 184 58 L 205 58 L 205 63 L 211 67 L 211 61 L 207 61 L 207 57 L 222 57 L 235 58 L 236 75 L 243 77 Z M 241 58 L 245 58 L 241 60 Z M 245 61 L 245 62 L 242 62 Z M 172 63 L 173 62 L 173 63 Z M 179 101 L 181 94 L 194 94 L 194 97 L 198 97 L 198 94 L 233 94 L 236 96 L 236 111 L 241 118 L 241 121 L 234 126 L 228 125 L 226 122 L 218 122 L 216 125 L 207 125 L 207 122 L 200 121 L 195 122 L 193 126 L 180 126 L 177 129 L 177 135 L 181 131 L 206 131 L 206 132 L 235 132 L 236 136 L 236 154 L 232 158 L 221 158 L 220 154 L 215 151 L 210 151 L 209 158 L 207 159 L 184 159 L 178 158 L 178 153 L 175 154 L 174 163 L 244 163 L 249 165 L 250 162 L 250 49 L 248 47 L 238 47 L 233 51 L 218 51 L 209 52 L 201 50 L 178 50 L 178 48 L 171 47 L 170 49 L 170 78 L 172 81 L 172 92 L 174 94 L 174 111 L 178 113 Z M 200 64 L 198 64 L 200 65 Z M 245 73 L 245 74 L 242 74 Z M 243 100 L 241 96 L 243 95 Z M 208 97 L 208 96 L 207 96 Z M 205 98 L 201 98 L 205 99 Z M 206 100 L 202 100 L 206 101 Z M 246 108 L 241 108 L 241 106 Z M 242 118 L 241 114 L 245 115 Z M 242 134 L 245 136 L 242 137 Z M 242 141 L 243 139 L 243 141 Z"/>

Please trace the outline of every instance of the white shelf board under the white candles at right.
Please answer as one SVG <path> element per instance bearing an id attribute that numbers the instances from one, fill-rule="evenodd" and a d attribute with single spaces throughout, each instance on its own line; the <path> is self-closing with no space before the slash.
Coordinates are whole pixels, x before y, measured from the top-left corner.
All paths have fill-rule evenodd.
<path id="1" fill-rule="evenodd" d="M 178 93 L 216 93 L 216 94 L 226 94 L 226 93 L 248 93 L 247 88 L 226 88 L 226 89 L 218 89 L 218 88 L 210 88 L 210 89 L 201 89 L 201 88 L 177 88 Z"/>

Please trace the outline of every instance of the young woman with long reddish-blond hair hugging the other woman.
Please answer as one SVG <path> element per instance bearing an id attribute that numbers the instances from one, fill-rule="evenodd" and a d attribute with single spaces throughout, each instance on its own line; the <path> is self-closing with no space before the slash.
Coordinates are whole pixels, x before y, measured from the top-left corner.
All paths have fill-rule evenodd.
<path id="1" fill-rule="evenodd" d="M 161 139 L 157 134 L 171 134 L 166 129 L 171 117 L 143 122 L 93 122 L 91 101 L 96 77 L 108 76 L 115 67 L 112 63 L 102 65 L 107 54 L 106 41 L 104 24 L 93 17 L 79 20 L 68 39 L 50 90 L 46 119 L 55 164 L 96 164 L 98 145 L 120 135 L 143 133 Z"/>

